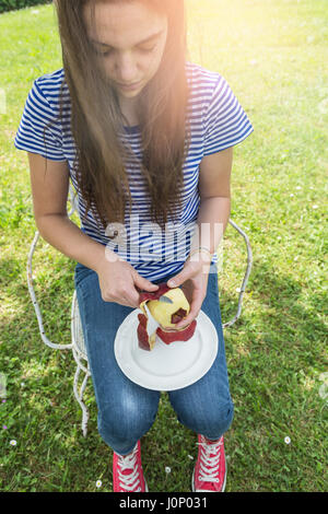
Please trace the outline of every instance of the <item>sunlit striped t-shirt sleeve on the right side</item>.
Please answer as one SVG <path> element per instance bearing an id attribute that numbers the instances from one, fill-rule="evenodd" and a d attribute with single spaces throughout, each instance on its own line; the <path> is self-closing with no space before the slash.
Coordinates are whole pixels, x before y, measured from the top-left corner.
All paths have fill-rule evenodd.
<path id="1" fill-rule="evenodd" d="M 254 128 L 225 79 L 219 75 L 204 119 L 203 155 L 244 141 Z"/>

